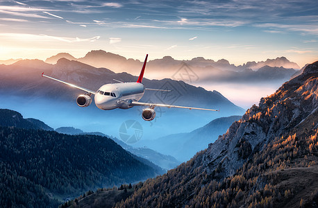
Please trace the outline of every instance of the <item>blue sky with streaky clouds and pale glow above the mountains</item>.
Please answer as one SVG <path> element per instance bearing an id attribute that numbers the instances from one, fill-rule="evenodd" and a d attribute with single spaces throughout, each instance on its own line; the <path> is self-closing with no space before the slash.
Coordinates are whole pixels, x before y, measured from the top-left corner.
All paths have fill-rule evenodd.
<path id="1" fill-rule="evenodd" d="M 0 1 L 0 60 L 92 50 L 239 65 L 318 60 L 318 1 Z"/>

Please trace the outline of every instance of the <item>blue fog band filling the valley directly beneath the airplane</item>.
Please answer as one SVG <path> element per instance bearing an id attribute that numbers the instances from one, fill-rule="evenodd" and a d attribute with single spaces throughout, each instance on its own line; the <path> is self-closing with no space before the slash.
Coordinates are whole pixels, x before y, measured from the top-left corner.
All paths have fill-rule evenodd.
<path id="1" fill-rule="evenodd" d="M 94 102 L 89 107 L 78 107 L 76 101 L 58 102 L 3 94 L 0 99 L 0 108 L 20 112 L 24 118 L 39 119 L 51 128 L 71 126 L 84 132 L 102 132 L 118 139 L 120 126 L 128 120 L 140 123 L 141 139 L 157 139 L 173 133 L 190 132 L 214 119 L 231 115 L 226 111 L 218 113 L 157 107 L 156 119 L 144 121 L 141 117 L 142 107 L 105 111 L 99 110 Z"/>

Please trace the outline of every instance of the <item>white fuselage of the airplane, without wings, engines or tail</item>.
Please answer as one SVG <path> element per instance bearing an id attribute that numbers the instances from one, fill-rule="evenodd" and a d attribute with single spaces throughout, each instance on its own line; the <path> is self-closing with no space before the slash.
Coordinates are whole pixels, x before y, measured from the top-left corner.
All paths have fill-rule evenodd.
<path id="1" fill-rule="evenodd" d="M 132 107 L 131 101 L 139 101 L 144 96 L 142 83 L 115 83 L 103 85 L 95 94 L 94 101 L 101 110 Z"/>

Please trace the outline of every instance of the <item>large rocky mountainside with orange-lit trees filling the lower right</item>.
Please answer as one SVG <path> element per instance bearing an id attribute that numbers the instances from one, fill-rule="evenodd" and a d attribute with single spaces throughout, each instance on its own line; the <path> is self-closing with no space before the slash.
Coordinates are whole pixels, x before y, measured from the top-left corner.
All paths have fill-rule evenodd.
<path id="1" fill-rule="evenodd" d="M 317 207 L 318 62 L 116 207 Z"/>

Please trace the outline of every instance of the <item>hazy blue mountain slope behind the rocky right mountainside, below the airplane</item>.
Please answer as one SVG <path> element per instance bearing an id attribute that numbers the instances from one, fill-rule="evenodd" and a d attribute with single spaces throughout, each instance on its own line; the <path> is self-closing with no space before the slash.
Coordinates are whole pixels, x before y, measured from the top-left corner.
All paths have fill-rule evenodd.
<path id="1" fill-rule="evenodd" d="M 154 140 L 144 140 L 142 144 L 153 150 L 171 155 L 181 162 L 189 160 L 195 153 L 204 150 L 217 140 L 234 121 L 242 116 L 228 116 L 215 119 L 201 128 L 188 133 L 167 135 Z"/>

